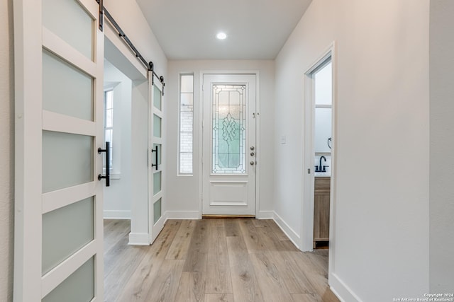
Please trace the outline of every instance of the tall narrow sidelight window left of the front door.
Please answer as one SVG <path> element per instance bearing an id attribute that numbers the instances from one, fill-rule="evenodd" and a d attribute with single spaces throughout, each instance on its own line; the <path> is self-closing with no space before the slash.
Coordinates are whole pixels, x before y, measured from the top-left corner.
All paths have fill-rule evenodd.
<path id="1" fill-rule="evenodd" d="M 194 124 L 194 75 L 179 77 L 179 174 L 192 174 L 192 144 Z"/>

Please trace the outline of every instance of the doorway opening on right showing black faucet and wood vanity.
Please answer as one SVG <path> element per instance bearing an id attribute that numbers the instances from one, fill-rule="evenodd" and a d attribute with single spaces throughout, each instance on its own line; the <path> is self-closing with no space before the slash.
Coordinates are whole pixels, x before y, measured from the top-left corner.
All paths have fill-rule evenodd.
<path id="1" fill-rule="evenodd" d="M 328 249 L 335 176 L 334 45 L 304 73 L 304 200 L 301 250 Z"/>

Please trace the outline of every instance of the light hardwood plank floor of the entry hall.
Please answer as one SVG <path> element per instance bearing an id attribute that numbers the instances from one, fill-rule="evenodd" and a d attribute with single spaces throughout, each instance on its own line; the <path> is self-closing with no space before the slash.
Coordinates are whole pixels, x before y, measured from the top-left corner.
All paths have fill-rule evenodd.
<path id="1" fill-rule="evenodd" d="M 328 250 L 300 252 L 272 220 L 169 220 L 151 246 L 104 221 L 105 301 L 338 301 Z"/>

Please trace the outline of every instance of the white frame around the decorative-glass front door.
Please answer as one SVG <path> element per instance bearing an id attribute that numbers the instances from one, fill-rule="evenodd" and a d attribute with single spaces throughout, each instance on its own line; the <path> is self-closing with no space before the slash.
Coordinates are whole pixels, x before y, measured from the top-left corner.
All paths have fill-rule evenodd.
<path id="1" fill-rule="evenodd" d="M 203 157 L 203 116 L 204 116 L 204 98 L 203 98 L 203 83 L 205 74 L 254 74 L 255 75 L 255 148 L 256 153 L 255 165 L 255 217 L 259 216 L 260 209 L 260 71 L 258 70 L 202 70 L 199 73 L 199 219 L 202 216 L 202 194 L 203 194 L 203 170 L 202 170 L 202 157 Z M 194 82 L 195 83 L 195 82 Z"/>

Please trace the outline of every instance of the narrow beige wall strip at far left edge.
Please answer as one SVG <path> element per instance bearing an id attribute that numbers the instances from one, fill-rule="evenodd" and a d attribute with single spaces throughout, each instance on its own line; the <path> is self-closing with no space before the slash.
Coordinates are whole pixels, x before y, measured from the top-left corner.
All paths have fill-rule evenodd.
<path id="1" fill-rule="evenodd" d="M 0 301 L 13 294 L 13 4 L 0 1 Z"/>

